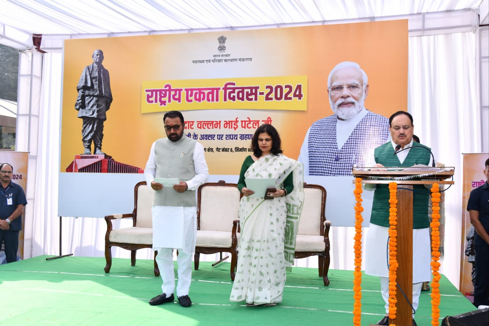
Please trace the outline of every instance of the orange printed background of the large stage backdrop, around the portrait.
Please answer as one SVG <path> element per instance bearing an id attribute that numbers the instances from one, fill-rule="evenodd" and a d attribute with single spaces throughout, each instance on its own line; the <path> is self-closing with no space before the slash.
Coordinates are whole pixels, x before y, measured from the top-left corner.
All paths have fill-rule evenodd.
<path id="1" fill-rule="evenodd" d="M 66 40 L 61 172 L 89 147 L 82 128 L 91 117 L 106 119 L 92 154 L 99 143 L 113 160 L 144 168 L 153 141 L 166 137 L 163 114 L 171 110 L 183 113 L 185 134 L 204 146 L 210 174 L 239 174 L 263 123 L 297 159 L 311 124 L 333 114 L 328 76 L 341 62 L 368 75 L 369 111 L 407 110 L 407 36 L 399 20 Z M 103 85 L 90 82 L 97 50 Z M 94 97 L 103 108 L 96 115 Z"/>

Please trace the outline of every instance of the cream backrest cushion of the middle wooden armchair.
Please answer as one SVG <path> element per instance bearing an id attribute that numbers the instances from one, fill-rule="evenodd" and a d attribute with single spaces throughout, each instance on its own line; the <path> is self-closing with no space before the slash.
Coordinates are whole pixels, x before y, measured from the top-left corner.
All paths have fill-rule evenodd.
<path id="1" fill-rule="evenodd" d="M 222 231 L 229 233 L 229 244 L 231 246 L 231 232 L 233 221 L 239 218 L 238 207 L 240 203 L 240 191 L 237 187 L 229 186 L 207 186 L 200 191 L 200 230 Z M 199 233 L 197 245 L 199 244 Z M 217 235 L 218 239 L 221 235 Z M 206 238 L 204 236 L 201 241 Z M 210 244 L 208 246 L 221 247 Z M 222 246 L 225 247 L 225 246 Z"/>

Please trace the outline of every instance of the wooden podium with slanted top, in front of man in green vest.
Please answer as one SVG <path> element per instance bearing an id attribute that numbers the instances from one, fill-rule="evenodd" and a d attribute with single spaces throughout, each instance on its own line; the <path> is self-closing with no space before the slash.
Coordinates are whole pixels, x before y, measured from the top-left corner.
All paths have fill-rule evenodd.
<path id="1" fill-rule="evenodd" d="M 453 185 L 445 179 L 453 176 L 454 167 L 396 167 L 383 170 L 371 170 L 370 167 L 354 167 L 355 178 L 361 178 L 362 184 L 389 184 L 397 182 L 397 283 L 409 303 L 413 296 L 413 186 L 414 185 Z M 429 189 L 426 189 L 429 191 Z M 431 195 L 430 195 L 431 198 Z M 387 201 L 386 206 L 389 205 Z M 397 288 L 396 319 L 389 324 L 406 326 L 412 324 L 412 309 Z"/>

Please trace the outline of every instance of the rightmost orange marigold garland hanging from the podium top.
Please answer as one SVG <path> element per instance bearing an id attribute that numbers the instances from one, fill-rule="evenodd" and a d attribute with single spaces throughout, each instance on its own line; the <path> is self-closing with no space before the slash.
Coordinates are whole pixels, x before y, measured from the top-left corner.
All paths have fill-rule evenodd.
<path id="1" fill-rule="evenodd" d="M 431 271 L 433 280 L 431 281 L 431 325 L 439 326 L 440 321 L 440 186 L 433 184 L 431 186 Z"/>

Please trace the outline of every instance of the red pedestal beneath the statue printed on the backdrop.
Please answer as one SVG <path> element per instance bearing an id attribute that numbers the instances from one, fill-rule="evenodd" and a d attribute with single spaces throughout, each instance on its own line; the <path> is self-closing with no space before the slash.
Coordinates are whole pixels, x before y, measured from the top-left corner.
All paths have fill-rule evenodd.
<path id="1" fill-rule="evenodd" d="M 144 173 L 137 166 L 120 163 L 107 154 L 80 154 L 68 165 L 66 172 L 85 173 Z"/>

